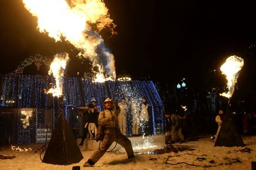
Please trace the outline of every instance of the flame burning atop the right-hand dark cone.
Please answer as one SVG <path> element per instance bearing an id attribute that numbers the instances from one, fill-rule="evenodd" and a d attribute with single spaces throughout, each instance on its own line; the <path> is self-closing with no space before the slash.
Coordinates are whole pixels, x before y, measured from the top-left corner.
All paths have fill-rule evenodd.
<path id="1" fill-rule="evenodd" d="M 221 95 L 227 98 L 231 98 L 232 94 L 234 93 L 235 84 L 237 83 L 237 79 L 239 76 L 239 71 L 244 66 L 244 59 L 240 58 L 239 56 L 229 56 L 226 62 L 222 64 L 221 71 L 222 74 L 226 75 L 227 79 L 227 88 L 228 92 L 224 92 Z"/>

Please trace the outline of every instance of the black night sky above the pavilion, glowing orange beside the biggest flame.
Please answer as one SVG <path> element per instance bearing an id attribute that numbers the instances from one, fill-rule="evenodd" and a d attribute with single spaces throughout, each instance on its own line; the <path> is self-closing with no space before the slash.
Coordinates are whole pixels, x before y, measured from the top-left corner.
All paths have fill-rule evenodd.
<path id="1" fill-rule="evenodd" d="M 255 47 L 250 45 L 256 41 L 256 15 L 251 2 L 108 0 L 105 4 L 117 35 L 106 30 L 100 34 L 115 56 L 117 75 L 196 82 L 228 56 L 238 55 L 245 60 L 243 81 L 254 81 Z M 88 72 L 88 61 L 82 64 L 71 44 L 37 31 L 37 18 L 21 0 L 2 0 L 0 8 L 1 74 L 14 71 L 29 56 L 53 59 L 58 52 L 70 54 L 67 75 Z M 42 65 L 37 71 L 32 65 L 24 74 L 47 75 L 48 69 Z"/>

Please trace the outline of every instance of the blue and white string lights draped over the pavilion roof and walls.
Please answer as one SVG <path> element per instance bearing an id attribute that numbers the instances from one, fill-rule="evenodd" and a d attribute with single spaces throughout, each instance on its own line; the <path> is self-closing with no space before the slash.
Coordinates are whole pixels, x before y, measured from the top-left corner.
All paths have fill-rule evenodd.
<path id="1" fill-rule="evenodd" d="M 5 75 L 1 91 L 1 107 L 17 108 L 17 143 L 28 144 L 33 142 L 32 136 L 37 136 L 37 130 L 55 128 L 55 121 L 59 115 L 58 99 L 45 94 L 44 89 L 50 89 L 50 84 L 55 81 L 52 76 L 40 75 Z M 69 110 L 80 105 L 88 105 L 91 99 L 95 99 L 97 106 L 103 110 L 103 101 L 107 97 L 114 99 L 114 93 L 117 93 L 117 101 L 122 97 L 127 97 L 132 101 L 137 99 L 138 106 L 141 104 L 141 98 L 145 96 L 152 106 L 153 134 L 156 134 L 156 124 L 164 126 L 163 104 L 160 96 L 152 81 L 117 81 L 115 91 L 115 82 L 106 81 L 105 83 L 93 83 L 90 79 L 80 79 L 74 77 L 64 78 L 65 101 L 63 104 L 65 116 L 68 119 Z M 14 100 L 14 103 L 7 103 L 8 100 Z M 49 112 L 51 110 L 51 112 Z M 22 128 L 21 111 L 32 111 L 32 117 L 29 118 L 27 128 Z M 48 114 L 47 114 L 48 112 Z M 52 124 L 47 125 L 47 115 L 52 114 Z M 130 114 L 131 116 L 131 114 Z M 32 120 L 35 121 L 32 121 Z M 129 135 L 132 134 L 132 119 L 129 118 L 127 124 Z M 41 132 L 41 131 L 40 131 Z M 162 133 L 164 129 L 162 128 Z M 35 139 L 35 142 L 42 142 L 41 139 Z"/>

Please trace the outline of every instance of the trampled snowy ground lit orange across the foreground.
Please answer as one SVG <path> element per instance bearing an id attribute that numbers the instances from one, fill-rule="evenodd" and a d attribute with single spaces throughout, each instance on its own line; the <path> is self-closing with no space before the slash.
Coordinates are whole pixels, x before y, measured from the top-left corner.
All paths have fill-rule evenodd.
<path id="1" fill-rule="evenodd" d="M 5 146 L 0 151 L 0 155 L 13 156 L 14 159 L 0 159 L 1 170 L 71 170 L 73 166 L 80 166 L 81 169 L 232 169 L 242 170 L 251 169 L 251 162 L 256 161 L 256 136 L 242 136 L 245 143 L 245 147 L 251 148 L 252 151 L 241 152 L 245 147 L 214 147 L 214 142 L 211 140 L 211 136 L 201 136 L 198 141 L 186 142 L 183 144 L 174 145 L 189 145 L 193 146 L 193 151 L 182 151 L 178 153 L 170 152 L 166 154 L 151 155 L 141 154 L 147 151 L 154 151 L 165 146 L 164 136 L 153 136 L 151 138 L 142 139 L 142 136 L 130 138 L 134 152 L 136 152 L 136 158 L 130 160 L 127 159 L 123 149 L 117 145 L 116 149 L 112 152 L 107 152 L 94 167 L 84 168 L 83 164 L 87 161 L 88 157 L 93 151 L 88 151 L 86 145 L 80 146 L 81 153 L 84 156 L 77 164 L 71 165 L 52 165 L 41 162 L 40 154 L 36 154 L 35 149 L 39 148 L 39 144 L 29 145 L 32 151 L 19 152 L 11 151 L 11 148 Z M 143 142 L 143 141 L 147 141 Z M 77 141 L 79 142 L 79 141 Z M 139 148 L 144 144 L 144 148 Z M 154 145 L 152 147 L 149 144 Z M 88 146 L 93 146 L 93 143 L 88 142 Z M 114 146 L 114 145 L 112 145 Z M 111 147 L 112 147 L 111 146 Z M 28 147 L 28 146 L 22 146 Z M 96 146 L 94 146 L 96 147 Z M 96 147 L 97 148 L 97 147 Z M 148 148 L 148 149 L 146 149 Z M 111 149 L 111 148 L 110 148 Z M 140 153 L 138 153 L 140 152 Z M 210 163 L 210 161 L 212 163 Z M 239 162 L 241 161 L 241 162 Z M 184 162 L 178 165 L 179 162 Z M 229 164 L 234 162 L 233 164 Z M 168 163 L 168 164 L 166 164 Z M 187 165 L 190 164 L 190 165 Z M 229 165 L 226 165 L 229 164 Z M 198 165 L 198 166 L 195 166 Z"/>

